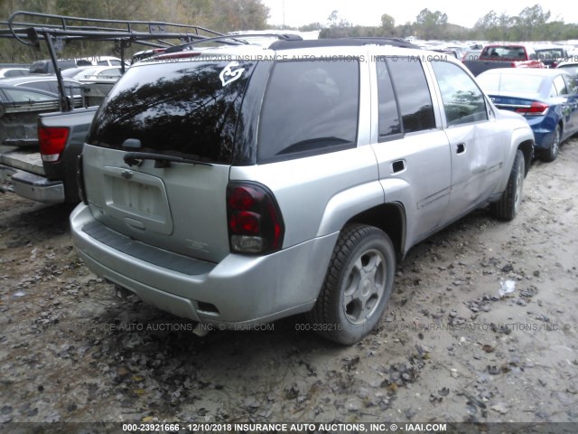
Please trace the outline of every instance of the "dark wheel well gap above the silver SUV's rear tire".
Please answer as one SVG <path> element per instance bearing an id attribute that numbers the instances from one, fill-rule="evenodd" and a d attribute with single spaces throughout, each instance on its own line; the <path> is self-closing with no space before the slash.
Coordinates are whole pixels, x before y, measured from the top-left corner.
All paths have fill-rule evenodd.
<path id="1" fill-rule="evenodd" d="M 348 223 L 362 223 L 375 226 L 387 233 L 394 245 L 397 259 L 404 256 L 406 243 L 406 212 L 401 203 L 384 203 L 352 217 Z"/>

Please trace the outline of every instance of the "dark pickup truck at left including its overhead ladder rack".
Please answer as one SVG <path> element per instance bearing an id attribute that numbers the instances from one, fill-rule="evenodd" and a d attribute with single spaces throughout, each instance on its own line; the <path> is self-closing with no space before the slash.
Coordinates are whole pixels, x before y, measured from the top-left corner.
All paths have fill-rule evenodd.
<path id="1" fill-rule="evenodd" d="M 34 21 L 42 23 L 33 24 Z M 84 24 L 81 34 L 75 28 L 78 22 Z M 14 12 L 3 24 L 5 27 L 0 25 L 0 36 L 14 38 L 31 49 L 39 49 L 41 40 L 46 42 L 51 60 L 35 62 L 31 71 L 56 72 L 59 82 L 62 80 L 61 70 L 77 66 L 77 62 L 57 59 L 52 43 L 56 38 L 62 42 L 114 41 L 120 61 L 124 61 L 125 49 L 133 42 L 161 50 L 173 45 L 168 40 L 182 43 L 223 36 L 191 24 L 95 20 L 26 11 Z M 108 61 L 108 58 L 101 60 Z M 96 106 L 112 86 L 110 82 L 85 83 L 84 104 L 95 106 L 88 109 L 70 107 L 61 85 L 59 100 L 51 108 L 40 107 L 36 101 L 30 100 L 21 101 L 23 104 L 18 107 L 14 104 L 4 106 L 0 99 L 0 193 L 14 192 L 42 203 L 79 203 L 77 161 L 98 109 Z M 53 110 L 60 111 L 46 112 Z M 33 130 L 36 115 L 38 139 Z"/>

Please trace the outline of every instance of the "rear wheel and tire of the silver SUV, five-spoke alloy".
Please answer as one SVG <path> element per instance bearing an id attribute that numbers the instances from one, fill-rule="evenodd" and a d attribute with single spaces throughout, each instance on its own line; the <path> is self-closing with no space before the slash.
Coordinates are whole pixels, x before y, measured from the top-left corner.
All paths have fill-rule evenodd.
<path id="1" fill-rule="evenodd" d="M 384 231 L 350 224 L 340 233 L 317 303 L 312 330 L 355 344 L 378 325 L 394 286 L 396 252 Z"/>

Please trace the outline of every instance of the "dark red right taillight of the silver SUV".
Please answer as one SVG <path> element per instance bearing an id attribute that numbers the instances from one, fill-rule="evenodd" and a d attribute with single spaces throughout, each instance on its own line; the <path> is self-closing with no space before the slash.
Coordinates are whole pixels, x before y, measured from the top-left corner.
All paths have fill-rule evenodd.
<path id="1" fill-rule="evenodd" d="M 229 184 L 227 222 L 232 251 L 261 254 L 281 249 L 283 218 L 273 193 L 264 186 Z"/>

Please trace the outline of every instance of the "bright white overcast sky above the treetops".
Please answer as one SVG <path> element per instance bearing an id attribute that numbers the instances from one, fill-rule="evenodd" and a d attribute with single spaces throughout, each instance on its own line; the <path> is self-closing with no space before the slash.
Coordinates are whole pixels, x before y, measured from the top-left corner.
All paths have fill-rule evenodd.
<path id="1" fill-rule="evenodd" d="M 405 2 L 384 0 L 263 0 L 269 7 L 269 24 L 285 24 L 298 27 L 304 24 L 319 22 L 326 24 L 332 11 L 338 11 L 341 18 L 351 24 L 379 25 L 381 15 L 389 14 L 396 20 L 396 25 L 415 22 L 415 17 L 425 8 L 431 12 L 440 11 L 448 15 L 448 22 L 473 27 L 479 18 L 495 11 L 497 14 L 510 16 L 519 14 L 524 8 L 539 4 L 544 12 L 550 11 L 551 18 L 564 20 L 564 23 L 577 23 L 578 14 L 573 0 L 570 3 L 562 0 L 482 0 L 457 3 L 455 0 L 429 0 L 427 2 Z M 564 5 L 565 4 L 565 5 Z M 573 6 L 571 6 L 573 5 Z M 568 12 L 570 11 L 570 13 Z"/>

